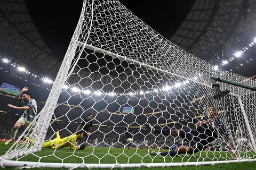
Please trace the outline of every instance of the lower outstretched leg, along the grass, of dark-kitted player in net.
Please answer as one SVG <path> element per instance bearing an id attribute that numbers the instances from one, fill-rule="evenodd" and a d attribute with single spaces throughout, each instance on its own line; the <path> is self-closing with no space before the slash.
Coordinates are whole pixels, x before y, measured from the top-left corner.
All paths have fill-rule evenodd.
<path id="1" fill-rule="evenodd" d="M 189 146 L 184 145 L 184 146 L 178 147 L 174 150 L 171 150 L 169 152 L 151 151 L 150 154 L 151 155 L 161 155 L 161 156 L 166 156 L 166 155 L 175 156 L 175 155 L 180 155 L 180 154 L 187 154 L 190 152 L 191 152 L 191 150 L 190 150 Z"/>

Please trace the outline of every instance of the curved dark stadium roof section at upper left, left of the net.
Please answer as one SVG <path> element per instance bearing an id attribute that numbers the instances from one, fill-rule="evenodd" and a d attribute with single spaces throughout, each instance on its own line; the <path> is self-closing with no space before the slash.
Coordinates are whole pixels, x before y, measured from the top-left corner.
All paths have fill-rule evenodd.
<path id="1" fill-rule="evenodd" d="M 0 2 L 0 54 L 26 69 L 55 77 L 61 61 L 39 35 L 23 0 Z"/>

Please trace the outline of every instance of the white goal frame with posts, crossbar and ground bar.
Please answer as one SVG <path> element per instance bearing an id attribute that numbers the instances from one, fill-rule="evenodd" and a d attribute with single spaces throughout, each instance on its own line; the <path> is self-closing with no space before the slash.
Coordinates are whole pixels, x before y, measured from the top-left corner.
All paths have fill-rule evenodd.
<path id="1" fill-rule="evenodd" d="M 170 71 L 162 70 L 157 67 L 150 66 L 148 64 L 133 60 L 131 58 L 127 58 L 125 56 L 121 56 L 121 55 L 118 55 L 118 54 L 115 54 L 112 52 L 108 52 L 107 50 L 87 44 L 87 40 L 89 39 L 89 36 L 90 36 L 90 30 L 91 30 L 92 24 L 90 24 L 90 28 L 88 28 L 89 31 L 86 35 L 87 37 L 86 36 L 84 37 L 85 43 L 78 41 L 79 34 L 82 32 L 82 29 L 81 29 L 83 26 L 82 25 L 82 23 L 83 23 L 82 16 L 84 15 L 84 11 L 85 11 L 84 8 L 86 6 L 86 3 L 87 3 L 87 1 L 85 0 L 84 5 L 83 5 L 83 10 L 81 12 L 81 16 L 78 21 L 76 30 L 74 32 L 74 35 L 73 35 L 71 41 L 70 41 L 70 45 L 68 47 L 67 53 L 66 53 L 65 58 L 61 64 L 57 78 L 53 83 L 53 87 L 52 87 L 50 95 L 46 101 L 46 104 L 45 104 L 44 108 L 42 109 L 42 111 L 36 116 L 35 120 L 33 121 L 33 123 L 34 123 L 34 122 L 36 122 L 37 118 L 42 118 L 41 124 L 47 125 L 47 127 L 46 126 L 43 127 L 45 129 L 42 131 L 42 133 L 40 133 L 42 136 L 40 137 L 41 139 L 38 142 L 39 144 L 35 148 L 32 148 L 32 150 L 34 152 L 41 151 L 42 143 L 45 140 L 46 132 L 47 132 L 47 129 L 49 128 L 51 117 L 53 115 L 52 108 L 54 108 L 53 106 L 57 105 L 57 101 L 60 96 L 60 92 L 61 92 L 60 87 L 62 87 L 69 78 L 69 77 L 67 77 L 69 70 L 67 70 L 66 68 L 67 67 L 71 68 L 70 72 L 72 72 L 75 69 L 76 63 L 78 62 L 78 60 L 81 57 L 81 54 L 84 52 L 85 48 L 93 50 L 94 52 L 99 52 L 99 53 L 107 55 L 107 56 L 121 58 L 122 60 L 126 60 L 129 63 L 138 64 L 143 67 L 147 67 L 151 70 L 157 70 L 157 71 L 161 71 L 163 73 L 171 74 L 171 75 L 174 75 L 175 77 L 193 81 L 197 84 L 201 84 L 205 87 L 211 88 L 211 86 L 209 84 L 206 84 L 206 83 L 203 83 L 200 81 L 196 81 L 196 80 L 191 80 L 188 77 L 184 77 L 182 75 L 175 74 Z M 92 13 L 93 13 L 93 5 L 92 5 Z M 91 17 L 93 17 L 93 14 Z M 90 19 L 90 22 L 92 22 L 92 21 L 93 21 L 93 19 Z M 79 52 L 79 55 L 78 55 L 79 57 L 76 58 L 76 61 L 73 65 L 73 67 L 70 67 L 72 61 L 74 60 L 75 52 L 76 52 L 77 48 L 79 48 L 78 46 L 81 47 L 81 51 Z M 63 71 L 63 70 L 65 70 L 65 71 Z M 256 147 L 255 140 L 253 138 L 252 130 L 250 128 L 250 124 L 249 124 L 248 118 L 246 116 L 245 109 L 243 107 L 241 95 L 237 95 L 237 94 L 233 94 L 233 93 L 230 93 L 230 94 L 236 96 L 239 100 L 239 106 L 242 108 L 242 113 L 243 113 L 243 117 L 245 119 L 245 124 L 249 131 L 250 138 L 251 138 L 251 141 L 252 141 L 254 149 L 255 149 L 255 147 Z M 43 117 L 45 117 L 45 118 L 43 118 Z M 32 125 L 30 125 L 25 131 L 28 131 L 31 126 Z M 40 125 L 36 125 L 36 126 L 38 129 L 41 128 L 41 127 L 39 127 Z M 21 137 L 18 139 L 18 141 L 20 139 L 21 139 Z M 13 148 L 14 148 L 14 145 L 9 150 L 11 150 Z M 12 158 L 15 158 L 18 156 L 20 156 L 19 153 L 13 154 L 12 157 L 7 157 L 7 159 L 12 159 Z M 181 163 L 138 163 L 138 164 L 119 164 L 119 163 L 116 163 L 116 164 L 84 164 L 84 163 L 81 163 L 81 164 L 73 164 L 73 163 L 22 162 L 22 161 L 7 160 L 7 159 L 6 159 L 6 157 L 0 157 L 0 165 L 2 167 L 53 167 L 53 168 L 63 168 L 63 167 L 65 167 L 65 168 L 77 168 L 77 167 L 84 167 L 84 168 L 171 167 L 171 166 L 215 165 L 215 164 L 222 164 L 222 163 L 241 163 L 241 162 L 256 161 L 256 159 L 239 159 L 239 160 L 221 160 L 221 161 L 211 161 L 211 162 L 181 162 Z"/>

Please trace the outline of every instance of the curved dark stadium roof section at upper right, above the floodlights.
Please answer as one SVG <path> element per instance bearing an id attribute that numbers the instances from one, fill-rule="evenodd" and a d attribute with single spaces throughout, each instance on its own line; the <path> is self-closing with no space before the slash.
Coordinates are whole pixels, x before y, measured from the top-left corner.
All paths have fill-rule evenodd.
<path id="1" fill-rule="evenodd" d="M 219 52 L 223 53 L 222 60 L 228 60 L 230 50 L 238 50 L 234 43 L 241 43 L 237 33 L 246 32 L 250 39 L 255 36 L 255 4 L 249 0 L 197 0 L 170 40 L 203 60 L 212 62 Z"/>

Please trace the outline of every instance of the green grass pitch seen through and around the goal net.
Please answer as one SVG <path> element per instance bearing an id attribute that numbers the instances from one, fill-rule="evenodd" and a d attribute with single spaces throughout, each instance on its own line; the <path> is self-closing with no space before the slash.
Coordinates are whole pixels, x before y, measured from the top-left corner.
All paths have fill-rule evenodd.
<path id="1" fill-rule="evenodd" d="M 0 155 L 4 155 L 6 150 L 10 148 L 0 141 Z M 43 148 L 41 152 L 29 154 L 20 158 L 20 161 L 46 163 L 87 163 L 87 164 L 108 164 L 108 163 L 179 163 L 179 162 L 209 162 L 213 160 L 230 160 L 230 154 L 225 151 L 202 151 L 194 155 L 179 155 L 177 157 L 166 156 L 150 156 L 148 149 L 124 149 L 124 148 L 101 148 L 101 147 L 86 147 L 85 150 L 77 150 L 73 152 L 69 148 L 54 149 Z M 164 150 L 163 150 L 164 151 Z M 245 154 L 244 154 L 245 155 Z M 255 154 L 247 152 L 247 157 L 256 158 Z M 166 169 L 256 169 L 256 162 L 248 163 L 230 163 L 214 166 L 189 166 L 189 167 L 170 167 Z M 13 169 L 13 168 L 7 168 Z M 51 168 L 43 168 L 51 169 Z M 162 168 L 129 168 L 129 169 L 162 169 Z"/>

